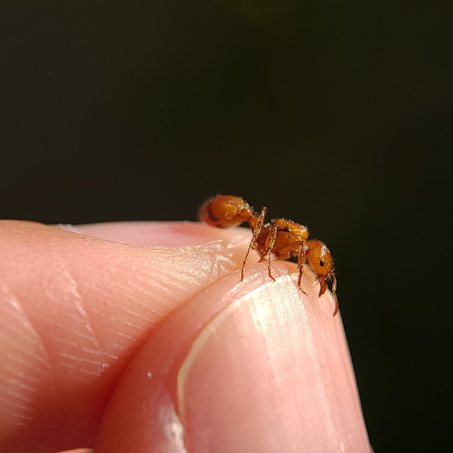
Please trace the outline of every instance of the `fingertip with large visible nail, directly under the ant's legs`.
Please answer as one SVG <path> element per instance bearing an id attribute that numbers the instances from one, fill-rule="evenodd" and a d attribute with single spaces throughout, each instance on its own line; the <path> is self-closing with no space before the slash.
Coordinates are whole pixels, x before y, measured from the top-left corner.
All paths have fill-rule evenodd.
<path id="1" fill-rule="evenodd" d="M 149 337 L 96 452 L 369 451 L 340 317 L 291 263 L 227 275 Z M 162 349 L 165 345 L 165 350 Z M 113 433 L 113 434 L 112 434 Z"/>

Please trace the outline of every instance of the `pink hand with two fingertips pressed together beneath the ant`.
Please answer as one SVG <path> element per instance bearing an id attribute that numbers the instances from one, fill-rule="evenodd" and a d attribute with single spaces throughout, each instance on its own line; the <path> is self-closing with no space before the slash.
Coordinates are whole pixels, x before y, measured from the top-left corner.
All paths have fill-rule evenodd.
<path id="1" fill-rule="evenodd" d="M 332 295 L 249 239 L 0 221 L 0 452 L 369 452 Z"/>

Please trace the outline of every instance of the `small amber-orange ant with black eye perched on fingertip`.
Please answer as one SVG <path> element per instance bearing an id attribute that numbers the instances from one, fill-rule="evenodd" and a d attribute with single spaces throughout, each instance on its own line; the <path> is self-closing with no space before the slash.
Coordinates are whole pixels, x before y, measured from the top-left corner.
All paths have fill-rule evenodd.
<path id="1" fill-rule="evenodd" d="M 327 246 L 321 241 L 308 240 L 308 228 L 291 220 L 274 219 L 265 223 L 267 207 L 262 207 L 258 214 L 241 197 L 233 195 L 217 195 L 208 198 L 202 204 L 199 218 L 202 222 L 217 228 L 231 228 L 247 222 L 252 230 L 252 239 L 242 261 L 241 281 L 244 280 L 244 271 L 251 250 L 256 250 L 261 255 L 261 261 L 267 257 L 269 277 L 275 281 L 270 269 L 271 255 L 277 260 L 286 260 L 291 256 L 298 257 L 299 281 L 298 288 L 304 294 L 301 280 L 304 267 L 310 264 L 318 276 L 321 289 L 319 296 L 327 289 L 327 280 L 332 278 L 332 294 L 335 299 L 335 311 L 338 312 L 337 279 L 333 272 L 333 259 Z"/>

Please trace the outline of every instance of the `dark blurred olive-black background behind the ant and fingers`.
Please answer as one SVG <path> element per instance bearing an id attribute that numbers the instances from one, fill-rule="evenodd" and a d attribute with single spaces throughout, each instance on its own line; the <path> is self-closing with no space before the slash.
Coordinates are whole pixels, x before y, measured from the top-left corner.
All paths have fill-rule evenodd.
<path id="1" fill-rule="evenodd" d="M 5 3 L 0 217 L 307 225 L 376 453 L 451 444 L 451 4 Z"/>

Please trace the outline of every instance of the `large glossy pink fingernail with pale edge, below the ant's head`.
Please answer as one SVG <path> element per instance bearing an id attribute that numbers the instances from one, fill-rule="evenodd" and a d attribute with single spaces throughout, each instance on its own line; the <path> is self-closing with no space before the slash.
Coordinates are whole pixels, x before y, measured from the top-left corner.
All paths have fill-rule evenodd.
<path id="1" fill-rule="evenodd" d="M 370 451 L 341 320 L 325 296 L 302 304 L 294 282 L 277 279 L 199 333 L 177 379 L 188 452 Z"/>

